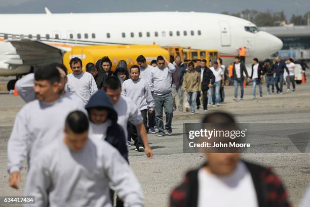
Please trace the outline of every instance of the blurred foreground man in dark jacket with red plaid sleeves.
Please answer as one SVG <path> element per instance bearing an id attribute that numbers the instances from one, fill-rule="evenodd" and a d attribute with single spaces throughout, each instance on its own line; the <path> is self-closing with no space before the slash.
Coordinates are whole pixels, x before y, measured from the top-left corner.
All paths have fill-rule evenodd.
<path id="1" fill-rule="evenodd" d="M 234 117 L 225 112 L 210 113 L 203 123 L 236 127 Z M 270 168 L 245 162 L 239 153 L 207 153 L 206 157 L 208 162 L 187 172 L 171 192 L 170 207 L 291 206 L 280 178 Z"/>

